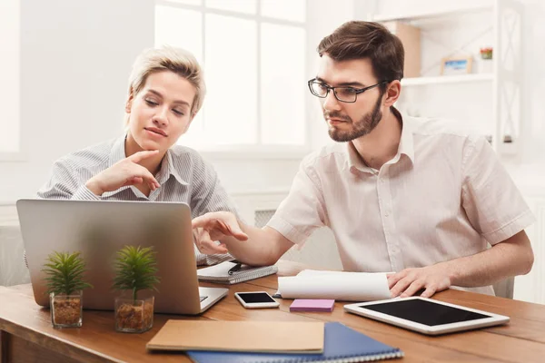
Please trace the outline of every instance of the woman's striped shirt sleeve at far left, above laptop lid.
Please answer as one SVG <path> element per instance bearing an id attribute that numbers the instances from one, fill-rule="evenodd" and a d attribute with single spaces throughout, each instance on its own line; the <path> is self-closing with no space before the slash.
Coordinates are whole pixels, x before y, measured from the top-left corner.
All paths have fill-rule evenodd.
<path id="1" fill-rule="evenodd" d="M 64 199 L 74 201 L 100 201 L 101 198 L 79 180 L 76 172 L 64 159 L 54 162 L 49 180 L 37 192 L 41 199 Z"/>

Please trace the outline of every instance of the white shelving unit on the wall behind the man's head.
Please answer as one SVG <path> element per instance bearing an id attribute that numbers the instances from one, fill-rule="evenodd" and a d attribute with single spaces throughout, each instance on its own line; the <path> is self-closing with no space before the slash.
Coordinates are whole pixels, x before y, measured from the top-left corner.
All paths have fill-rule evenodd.
<path id="1" fill-rule="evenodd" d="M 487 131 L 483 133 L 491 135 L 494 150 L 501 156 L 512 157 L 520 154 L 519 135 L 523 120 L 521 104 L 523 89 L 520 74 L 522 69 L 522 10 L 522 5 L 514 0 L 490 0 L 486 4 L 452 7 L 441 11 L 426 9 L 420 13 L 376 14 L 372 15 L 370 20 L 376 22 L 400 21 L 418 26 L 421 28 L 422 59 L 429 61 L 432 57 L 437 58 L 435 68 L 428 66 L 424 70 L 426 66 L 422 63 L 421 77 L 406 78 L 401 81 L 401 84 L 406 87 L 405 93 L 411 93 L 411 96 L 407 96 L 405 99 L 405 103 L 407 103 L 405 105 L 411 106 L 408 108 L 413 111 L 419 110 L 418 113 L 425 115 L 426 102 L 431 103 L 430 100 L 433 97 L 436 98 L 436 107 L 438 107 L 437 103 L 441 102 L 446 105 L 456 103 L 458 110 L 465 110 L 470 116 L 475 117 L 475 123 L 490 123 L 490 127 L 487 126 Z M 456 24 L 456 19 L 461 19 L 461 17 L 464 17 L 464 21 L 473 20 L 477 23 L 472 28 L 469 24 L 467 26 L 453 26 L 452 24 Z M 484 28 L 486 32 L 482 31 L 484 24 L 481 20 L 475 19 L 486 19 L 489 23 L 486 25 L 488 28 Z M 461 21 L 459 20 L 459 22 Z M 471 34 L 473 29 L 476 30 Z M 477 72 L 473 70 L 471 74 L 440 75 L 436 65 L 441 64 L 441 58 L 451 56 L 457 51 L 459 53 L 457 55 L 465 52 L 465 55 L 473 56 L 476 61 L 473 63 L 479 65 L 481 60 L 475 55 L 478 54 L 475 50 L 479 41 L 478 37 L 484 33 L 488 33 L 490 45 L 493 48 L 491 72 L 489 70 L 488 73 L 478 73 L 479 70 Z M 471 44 L 472 52 L 468 49 L 461 49 L 463 46 L 457 49 L 460 45 L 452 45 L 452 49 L 441 49 L 444 44 L 437 45 L 440 42 L 433 39 L 434 36 L 436 38 L 442 36 L 442 38 L 451 40 L 451 38 L 455 38 L 454 34 L 460 34 L 461 38 L 465 36 L 467 39 L 464 40 L 466 44 Z M 426 36 L 429 37 L 427 42 L 425 41 Z M 481 46 L 484 46 L 484 43 Z M 438 51 L 438 49 L 441 50 Z M 475 91 L 478 87 L 480 87 L 479 91 Z M 441 100 L 442 92 L 451 93 L 451 98 L 445 97 L 446 100 Z M 419 96 L 419 94 L 423 95 Z M 401 93 L 402 97 L 403 93 Z M 411 102 L 409 103 L 408 100 Z M 452 109 L 454 107 L 451 107 Z M 407 112 L 407 110 L 404 111 Z M 455 114 L 441 114 L 441 116 L 456 119 Z M 506 138 L 506 136 L 509 137 Z M 512 142 L 504 142 L 509 138 Z"/>

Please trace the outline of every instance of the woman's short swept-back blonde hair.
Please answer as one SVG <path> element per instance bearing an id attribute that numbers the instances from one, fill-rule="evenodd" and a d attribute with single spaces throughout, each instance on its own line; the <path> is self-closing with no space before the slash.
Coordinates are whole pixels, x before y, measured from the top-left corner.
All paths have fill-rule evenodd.
<path id="1" fill-rule="evenodd" d="M 129 77 L 129 96 L 135 96 L 144 87 L 150 74 L 156 72 L 171 71 L 185 78 L 195 88 L 195 98 L 191 107 L 194 115 L 203 106 L 206 84 L 204 83 L 203 69 L 193 54 L 171 46 L 146 49 L 136 58 L 133 64 L 133 72 Z"/>

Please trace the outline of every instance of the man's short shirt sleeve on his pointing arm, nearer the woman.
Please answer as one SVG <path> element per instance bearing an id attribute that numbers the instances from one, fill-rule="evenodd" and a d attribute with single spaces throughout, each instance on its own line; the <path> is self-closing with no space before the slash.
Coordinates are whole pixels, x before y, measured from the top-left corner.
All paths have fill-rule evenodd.
<path id="1" fill-rule="evenodd" d="M 329 224 L 322 184 L 313 160 L 311 155 L 302 161 L 290 193 L 267 223 L 300 247 L 313 231 Z"/>

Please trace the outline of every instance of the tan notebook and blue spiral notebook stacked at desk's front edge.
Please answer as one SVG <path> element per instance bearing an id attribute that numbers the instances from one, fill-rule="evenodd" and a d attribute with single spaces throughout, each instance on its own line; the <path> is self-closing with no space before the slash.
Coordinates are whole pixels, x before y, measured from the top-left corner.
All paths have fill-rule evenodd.
<path id="1" fill-rule="evenodd" d="M 399 348 L 337 322 L 200 323 L 169 320 L 146 348 L 185 350 L 196 363 L 343 363 L 403 357 Z"/>

